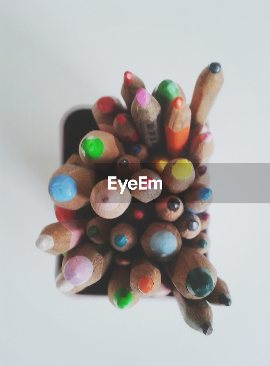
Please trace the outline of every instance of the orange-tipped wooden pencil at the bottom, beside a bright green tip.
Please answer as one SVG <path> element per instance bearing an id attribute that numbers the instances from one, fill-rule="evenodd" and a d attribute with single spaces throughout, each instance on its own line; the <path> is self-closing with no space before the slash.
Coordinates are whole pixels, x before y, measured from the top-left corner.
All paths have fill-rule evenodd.
<path id="1" fill-rule="evenodd" d="M 158 266 L 146 257 L 137 257 L 132 262 L 130 287 L 142 297 L 152 296 L 161 285 Z"/>

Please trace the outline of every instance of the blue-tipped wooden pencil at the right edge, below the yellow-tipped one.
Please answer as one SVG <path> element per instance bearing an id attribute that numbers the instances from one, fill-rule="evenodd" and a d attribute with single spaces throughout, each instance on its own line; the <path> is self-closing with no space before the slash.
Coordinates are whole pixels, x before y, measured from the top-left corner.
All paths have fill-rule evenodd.
<path id="1" fill-rule="evenodd" d="M 213 191 L 201 183 L 195 183 L 183 194 L 185 208 L 192 213 L 205 211 L 213 201 Z"/>

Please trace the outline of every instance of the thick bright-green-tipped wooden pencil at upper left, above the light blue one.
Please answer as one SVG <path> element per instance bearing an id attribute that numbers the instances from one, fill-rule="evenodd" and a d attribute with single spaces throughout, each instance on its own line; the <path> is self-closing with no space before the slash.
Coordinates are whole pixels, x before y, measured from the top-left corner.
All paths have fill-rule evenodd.
<path id="1" fill-rule="evenodd" d="M 79 145 L 79 154 L 83 164 L 91 169 L 106 169 L 108 163 L 112 163 L 124 153 L 121 142 L 112 134 L 104 131 L 90 131 L 82 138 Z"/>

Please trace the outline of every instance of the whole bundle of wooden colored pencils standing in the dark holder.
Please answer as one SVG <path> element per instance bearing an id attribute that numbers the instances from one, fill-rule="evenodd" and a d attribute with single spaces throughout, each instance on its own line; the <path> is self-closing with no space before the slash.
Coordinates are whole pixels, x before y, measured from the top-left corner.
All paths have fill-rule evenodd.
<path id="1" fill-rule="evenodd" d="M 125 72 L 127 107 L 115 97 L 94 104 L 97 128 L 50 178 L 58 221 L 36 241 L 59 256 L 60 291 L 85 293 L 103 283 L 119 309 L 140 297 L 173 294 L 184 321 L 211 334 L 209 303 L 231 304 L 206 256 L 206 210 L 213 200 L 206 118 L 222 83 L 220 64 L 211 63 L 188 106 L 177 83 L 164 80 L 149 94 L 141 79 Z"/>

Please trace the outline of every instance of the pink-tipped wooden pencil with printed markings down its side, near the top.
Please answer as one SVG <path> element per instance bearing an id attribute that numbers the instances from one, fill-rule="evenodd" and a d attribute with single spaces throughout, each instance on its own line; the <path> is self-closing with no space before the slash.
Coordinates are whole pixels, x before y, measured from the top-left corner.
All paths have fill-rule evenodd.
<path id="1" fill-rule="evenodd" d="M 138 89 L 131 105 L 131 115 L 146 146 L 160 140 L 160 105 L 146 89 Z"/>

